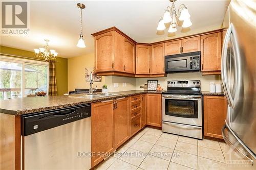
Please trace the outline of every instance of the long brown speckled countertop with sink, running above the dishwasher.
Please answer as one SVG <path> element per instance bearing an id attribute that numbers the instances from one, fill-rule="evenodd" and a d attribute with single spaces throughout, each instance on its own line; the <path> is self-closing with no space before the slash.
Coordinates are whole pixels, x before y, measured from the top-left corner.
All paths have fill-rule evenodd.
<path id="1" fill-rule="evenodd" d="M 117 98 L 123 98 L 126 96 L 144 94 L 144 93 L 162 93 L 162 91 L 147 91 L 147 90 L 131 90 L 110 92 L 117 95 L 104 96 L 101 98 L 87 99 L 87 98 L 74 98 L 74 96 L 81 96 L 83 94 L 72 95 L 58 95 L 58 96 L 45 96 L 45 97 L 30 97 L 19 98 L 12 100 L 0 101 L 0 113 L 23 115 L 29 113 L 36 113 L 41 111 L 65 108 L 76 105 L 83 105 L 94 102 L 101 102 L 106 100 L 112 100 Z"/>

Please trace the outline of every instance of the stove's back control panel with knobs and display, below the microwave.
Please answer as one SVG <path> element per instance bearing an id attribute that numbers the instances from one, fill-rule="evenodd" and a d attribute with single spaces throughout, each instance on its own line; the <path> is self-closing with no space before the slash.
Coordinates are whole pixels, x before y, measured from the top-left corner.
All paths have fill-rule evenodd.
<path id="1" fill-rule="evenodd" d="M 172 80 L 167 81 L 167 87 L 200 87 L 200 80 Z"/>

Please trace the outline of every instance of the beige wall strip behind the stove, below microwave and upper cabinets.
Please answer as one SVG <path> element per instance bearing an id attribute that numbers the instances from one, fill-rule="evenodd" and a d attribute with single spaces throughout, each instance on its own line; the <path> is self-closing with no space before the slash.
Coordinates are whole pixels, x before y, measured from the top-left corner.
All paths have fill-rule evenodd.
<path id="1" fill-rule="evenodd" d="M 202 76 L 201 72 L 188 72 L 188 73 L 176 73 L 168 74 L 164 78 L 136 78 L 136 90 L 141 90 L 140 86 L 144 86 L 147 83 L 147 80 L 158 80 L 158 84 L 167 90 L 167 81 L 168 80 L 201 80 L 201 91 L 209 91 L 209 83 L 221 83 L 220 75 L 213 76 Z"/>

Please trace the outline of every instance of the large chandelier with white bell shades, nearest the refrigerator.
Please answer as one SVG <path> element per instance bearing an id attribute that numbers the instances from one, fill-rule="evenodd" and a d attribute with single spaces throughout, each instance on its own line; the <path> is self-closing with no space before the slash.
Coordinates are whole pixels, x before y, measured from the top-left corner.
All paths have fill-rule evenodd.
<path id="1" fill-rule="evenodd" d="M 175 9 L 175 2 L 177 0 L 169 0 L 172 3 L 172 7 L 167 7 L 165 10 L 163 17 L 158 22 L 157 30 L 163 31 L 166 29 L 165 23 L 170 23 L 168 33 L 174 33 L 177 31 L 177 23 L 179 21 L 183 21 L 182 28 L 187 28 L 192 25 L 192 22 L 190 21 L 190 15 L 188 13 L 187 7 L 182 4 L 180 5 L 178 9 L 178 13 L 176 13 Z"/>

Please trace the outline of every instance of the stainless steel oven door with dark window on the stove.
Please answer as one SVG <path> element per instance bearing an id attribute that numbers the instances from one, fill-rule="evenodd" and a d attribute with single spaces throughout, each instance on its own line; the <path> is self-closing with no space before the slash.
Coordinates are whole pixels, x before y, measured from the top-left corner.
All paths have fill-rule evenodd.
<path id="1" fill-rule="evenodd" d="M 201 95 L 163 95 L 163 121 L 202 126 Z"/>

